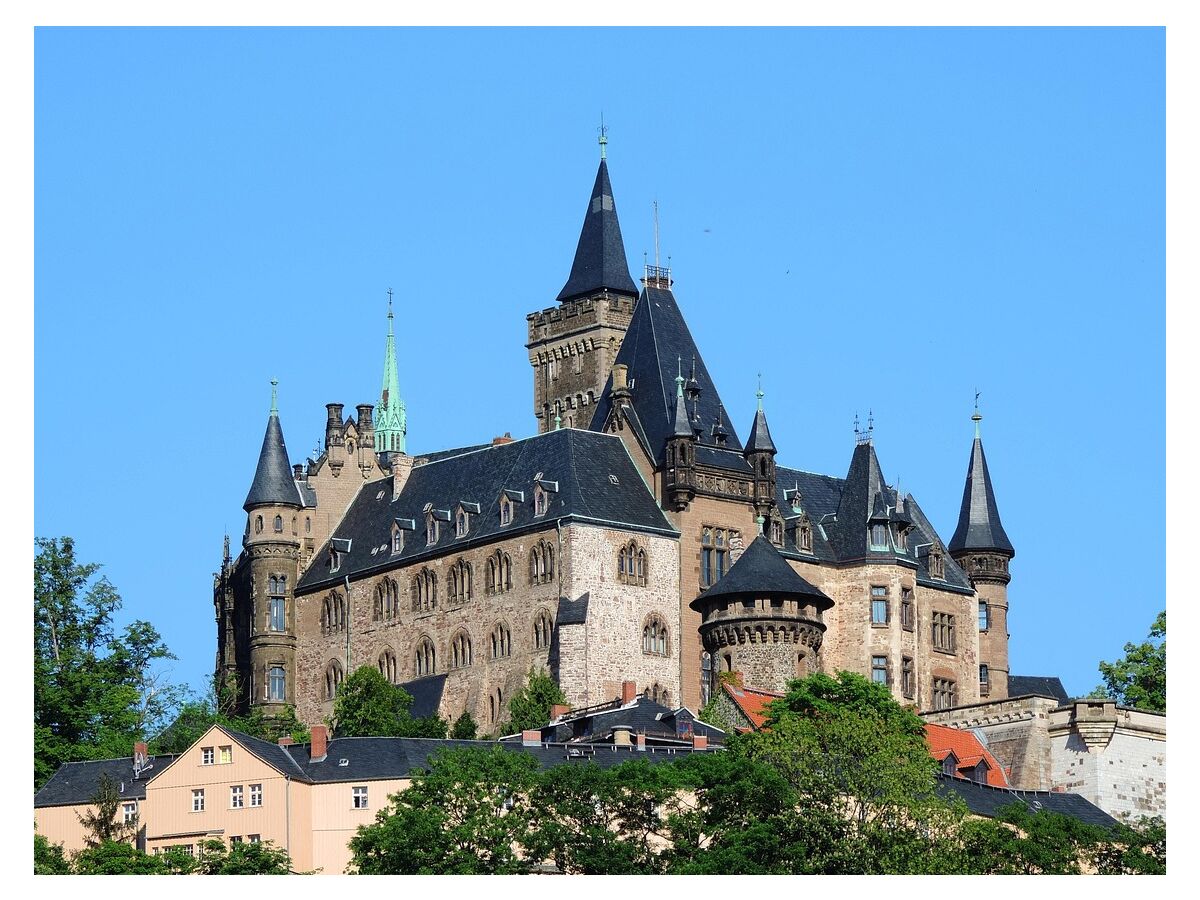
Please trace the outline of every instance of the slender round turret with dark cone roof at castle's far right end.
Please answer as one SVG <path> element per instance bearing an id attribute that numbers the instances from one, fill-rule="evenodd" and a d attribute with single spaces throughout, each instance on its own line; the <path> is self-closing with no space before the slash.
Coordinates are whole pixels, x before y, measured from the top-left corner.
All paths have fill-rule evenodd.
<path id="1" fill-rule="evenodd" d="M 979 595 L 979 694 L 989 700 L 1008 696 L 1008 560 L 1016 556 L 1000 523 L 996 496 L 988 474 L 988 457 L 979 437 L 979 408 L 967 482 L 962 490 L 959 527 L 947 546 L 971 577 Z"/>

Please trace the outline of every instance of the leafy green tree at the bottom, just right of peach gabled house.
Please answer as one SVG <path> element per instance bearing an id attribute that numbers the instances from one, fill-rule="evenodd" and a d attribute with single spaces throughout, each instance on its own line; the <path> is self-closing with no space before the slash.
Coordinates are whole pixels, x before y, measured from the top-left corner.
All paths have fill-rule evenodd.
<path id="1" fill-rule="evenodd" d="M 350 839 L 362 875 L 514 875 L 530 869 L 532 756 L 499 746 L 442 750 Z"/>

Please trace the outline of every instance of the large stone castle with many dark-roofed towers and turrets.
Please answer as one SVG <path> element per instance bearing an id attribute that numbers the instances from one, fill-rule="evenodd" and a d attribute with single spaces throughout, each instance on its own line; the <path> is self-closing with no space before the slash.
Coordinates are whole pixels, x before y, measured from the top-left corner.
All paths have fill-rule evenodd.
<path id="1" fill-rule="evenodd" d="M 390 304 L 379 402 L 328 404 L 318 458 L 290 463 L 272 385 L 215 580 L 239 709 L 319 721 L 362 665 L 482 731 L 530 667 L 577 707 L 632 680 L 698 710 L 722 671 L 780 690 L 851 670 L 919 710 L 1007 697 L 1015 551 L 978 412 L 944 542 L 870 430 L 845 476 L 785 467 L 760 390 L 743 443 L 684 308 L 670 269 L 630 277 L 601 138 L 570 275 L 526 317 L 535 436 L 409 455 Z"/>

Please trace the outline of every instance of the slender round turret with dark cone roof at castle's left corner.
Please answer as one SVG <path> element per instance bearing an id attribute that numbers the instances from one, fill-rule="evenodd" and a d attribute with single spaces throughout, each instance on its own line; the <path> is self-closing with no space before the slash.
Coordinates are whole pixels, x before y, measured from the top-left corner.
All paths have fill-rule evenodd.
<path id="1" fill-rule="evenodd" d="M 245 554 L 248 606 L 242 616 L 250 636 L 251 706 L 268 713 L 295 703 L 296 623 L 294 592 L 299 577 L 300 492 L 288 463 L 283 428 L 271 380 L 271 413 L 254 481 L 242 509 L 248 515 Z"/>

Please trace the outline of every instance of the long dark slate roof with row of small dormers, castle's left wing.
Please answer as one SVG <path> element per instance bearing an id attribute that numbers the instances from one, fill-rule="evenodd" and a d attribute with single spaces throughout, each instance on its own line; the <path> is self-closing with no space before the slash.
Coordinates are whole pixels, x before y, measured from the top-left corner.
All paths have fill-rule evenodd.
<path id="1" fill-rule="evenodd" d="M 539 475 L 544 481 L 557 481 L 558 491 L 547 492 L 546 511 L 535 516 L 533 487 Z M 511 523 L 500 524 L 499 499 L 505 491 L 522 499 L 514 500 Z M 340 584 L 346 576 L 353 580 L 541 529 L 559 520 L 678 535 L 620 438 L 577 428 L 560 428 L 415 466 L 400 497 L 392 500 L 391 494 L 390 478 L 370 481 L 360 488 L 331 538 L 331 541 L 350 541 L 349 550 L 341 554 L 338 570 L 330 571 L 326 544 L 300 578 L 298 593 Z M 467 536 L 456 538 L 452 522 L 442 523 L 437 544 L 426 546 L 426 506 L 452 512 L 460 503 L 478 503 L 481 510 L 470 515 Z M 404 532 L 403 550 L 394 554 L 392 523 L 404 520 L 413 524 L 413 530 Z"/>

